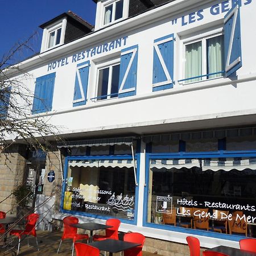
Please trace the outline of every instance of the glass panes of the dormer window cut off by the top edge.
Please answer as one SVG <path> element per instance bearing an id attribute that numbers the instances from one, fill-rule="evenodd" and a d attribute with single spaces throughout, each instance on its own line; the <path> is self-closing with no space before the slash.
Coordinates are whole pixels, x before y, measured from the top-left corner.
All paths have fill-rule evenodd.
<path id="1" fill-rule="evenodd" d="M 123 0 L 104 6 L 104 25 L 123 18 Z"/>

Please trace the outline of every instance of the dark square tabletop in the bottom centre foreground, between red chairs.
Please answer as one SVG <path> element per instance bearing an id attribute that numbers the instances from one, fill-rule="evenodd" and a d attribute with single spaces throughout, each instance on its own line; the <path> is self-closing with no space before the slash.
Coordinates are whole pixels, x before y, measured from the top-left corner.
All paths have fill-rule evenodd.
<path id="1" fill-rule="evenodd" d="M 113 253 L 118 253 L 119 251 L 125 251 L 134 247 L 141 245 L 141 243 L 131 243 L 121 240 L 106 239 L 102 241 L 97 241 L 89 243 L 89 245 L 100 249 L 101 251 L 108 251 L 109 256 L 113 256 Z"/>

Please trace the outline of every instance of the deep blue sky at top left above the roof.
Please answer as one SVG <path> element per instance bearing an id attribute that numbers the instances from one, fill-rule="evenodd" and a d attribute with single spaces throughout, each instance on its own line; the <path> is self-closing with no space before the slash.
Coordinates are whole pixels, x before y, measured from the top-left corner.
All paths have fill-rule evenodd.
<path id="1" fill-rule="evenodd" d="M 43 30 L 39 26 L 69 10 L 95 24 L 96 3 L 92 0 L 0 0 L 0 60 L 19 42 L 32 34 L 31 49 L 23 49 L 15 62 L 40 51 Z"/>

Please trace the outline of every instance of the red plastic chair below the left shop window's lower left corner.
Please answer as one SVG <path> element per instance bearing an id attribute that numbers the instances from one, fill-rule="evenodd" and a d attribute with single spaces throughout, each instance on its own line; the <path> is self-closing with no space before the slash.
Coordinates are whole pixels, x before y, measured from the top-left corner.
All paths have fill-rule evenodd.
<path id="1" fill-rule="evenodd" d="M 57 250 L 57 253 L 59 253 L 60 246 L 63 240 L 65 239 L 72 239 L 72 255 L 74 254 L 74 243 L 77 240 L 88 240 L 89 236 L 88 234 L 77 234 L 77 228 L 75 226 L 71 226 L 71 224 L 77 224 L 79 222 L 79 219 L 73 216 L 68 216 L 63 219 L 63 224 L 64 224 L 64 231 L 63 235 L 60 240 L 60 245 Z"/>

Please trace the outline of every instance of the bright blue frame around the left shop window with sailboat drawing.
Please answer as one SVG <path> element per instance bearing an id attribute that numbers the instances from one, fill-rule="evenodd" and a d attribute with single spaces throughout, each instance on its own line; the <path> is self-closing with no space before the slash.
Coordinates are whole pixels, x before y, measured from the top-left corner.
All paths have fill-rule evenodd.
<path id="1" fill-rule="evenodd" d="M 135 160 L 137 160 L 137 182 L 139 183 L 139 172 L 140 172 L 140 158 L 138 154 L 134 155 Z M 64 183 L 62 184 L 62 191 L 61 191 L 61 202 L 60 202 L 60 212 L 63 213 L 68 213 L 68 214 L 76 214 L 79 216 L 87 216 L 87 217 L 92 217 L 92 218 L 98 218 L 101 220 L 108 220 L 108 218 L 113 218 L 113 216 L 104 216 L 104 215 L 98 215 L 98 214 L 91 214 L 91 213 L 85 213 L 85 212 L 80 212 L 77 210 L 64 210 L 63 209 L 63 202 L 64 202 L 64 193 L 65 193 L 65 180 L 67 179 L 68 175 L 68 161 L 69 160 L 90 160 L 90 159 L 95 159 L 95 160 L 105 160 L 105 159 L 123 159 L 123 160 L 130 160 L 133 159 L 131 155 L 110 155 L 110 156 L 67 156 L 65 158 L 65 164 L 64 164 Z M 137 224 L 137 218 L 138 218 L 138 193 L 139 193 L 139 186 L 135 186 L 135 202 L 134 202 L 134 220 L 127 220 L 123 218 L 119 218 L 123 223 L 127 224 L 132 224 L 136 225 Z"/>

